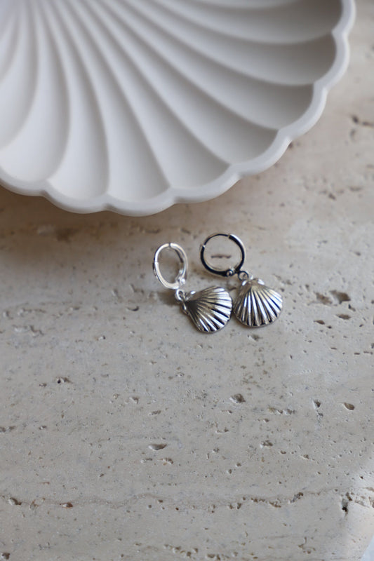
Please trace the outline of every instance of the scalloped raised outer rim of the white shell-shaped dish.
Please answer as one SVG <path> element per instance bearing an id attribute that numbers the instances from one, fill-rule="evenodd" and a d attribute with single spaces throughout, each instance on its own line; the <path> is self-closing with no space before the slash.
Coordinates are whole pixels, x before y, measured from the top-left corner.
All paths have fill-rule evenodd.
<path id="1" fill-rule="evenodd" d="M 326 105 L 326 98 L 330 88 L 342 78 L 349 62 L 348 34 L 354 24 L 356 6 L 354 0 L 341 1 L 342 15 L 338 25 L 331 31 L 331 36 L 336 46 L 335 60 L 328 72 L 314 82 L 312 101 L 307 111 L 297 121 L 279 129 L 272 144 L 260 156 L 243 163 L 229 165 L 222 175 L 216 177 L 215 180 L 208 184 L 189 189 L 178 189 L 178 191 L 170 187 L 161 194 L 142 201 L 124 201 L 120 198 L 114 198 L 107 193 L 94 198 L 88 198 L 87 200 L 77 200 L 60 193 L 48 181 L 25 182 L 15 180 L 1 167 L 0 184 L 17 194 L 44 196 L 44 198 L 47 198 L 59 208 L 69 210 L 70 212 L 91 213 L 112 210 L 128 216 L 153 215 L 177 203 L 208 201 L 225 193 L 241 178 L 255 175 L 274 165 L 284 154 L 290 142 L 300 135 L 307 133 L 319 120 Z"/>

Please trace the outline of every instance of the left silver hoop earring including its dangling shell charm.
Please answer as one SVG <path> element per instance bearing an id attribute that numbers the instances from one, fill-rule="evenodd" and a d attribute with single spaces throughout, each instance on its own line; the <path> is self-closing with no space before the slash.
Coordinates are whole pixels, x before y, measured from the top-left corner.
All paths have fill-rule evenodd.
<path id="1" fill-rule="evenodd" d="M 180 269 L 173 283 L 169 283 L 161 274 L 159 256 L 163 250 L 173 250 L 178 256 Z M 182 305 L 182 311 L 192 319 L 195 327 L 204 333 L 214 333 L 225 327 L 231 312 L 232 298 L 220 286 L 210 286 L 204 290 L 184 292 L 182 286 L 187 279 L 187 255 L 178 243 L 163 243 L 156 250 L 153 270 L 161 285 L 175 291 L 175 298 Z"/>

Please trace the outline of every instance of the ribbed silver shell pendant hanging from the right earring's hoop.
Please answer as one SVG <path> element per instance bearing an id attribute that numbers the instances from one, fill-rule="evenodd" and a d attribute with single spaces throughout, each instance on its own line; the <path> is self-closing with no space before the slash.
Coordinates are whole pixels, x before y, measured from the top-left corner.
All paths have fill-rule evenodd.
<path id="1" fill-rule="evenodd" d="M 273 323 L 281 313 L 282 297 L 268 288 L 260 278 L 245 280 L 234 303 L 234 314 L 248 327 Z"/>

